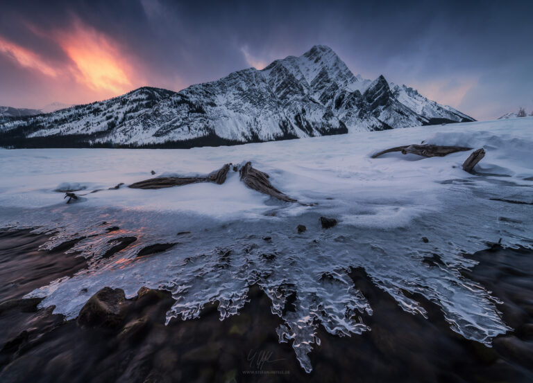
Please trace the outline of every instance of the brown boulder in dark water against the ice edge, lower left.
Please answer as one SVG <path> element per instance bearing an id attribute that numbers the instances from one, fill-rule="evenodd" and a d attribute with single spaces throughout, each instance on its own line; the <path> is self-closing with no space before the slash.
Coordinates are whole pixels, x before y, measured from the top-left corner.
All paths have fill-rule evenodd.
<path id="1" fill-rule="evenodd" d="M 81 309 L 78 315 L 78 325 L 116 328 L 124 320 L 125 308 L 124 290 L 103 287 Z"/>

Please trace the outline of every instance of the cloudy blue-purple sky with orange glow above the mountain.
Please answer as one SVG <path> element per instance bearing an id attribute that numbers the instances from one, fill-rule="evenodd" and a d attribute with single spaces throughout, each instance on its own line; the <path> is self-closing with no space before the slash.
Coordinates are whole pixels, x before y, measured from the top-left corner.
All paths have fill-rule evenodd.
<path id="1" fill-rule="evenodd" d="M 533 1 L 6 1 L 0 105 L 178 91 L 315 44 L 478 120 L 533 112 Z"/>

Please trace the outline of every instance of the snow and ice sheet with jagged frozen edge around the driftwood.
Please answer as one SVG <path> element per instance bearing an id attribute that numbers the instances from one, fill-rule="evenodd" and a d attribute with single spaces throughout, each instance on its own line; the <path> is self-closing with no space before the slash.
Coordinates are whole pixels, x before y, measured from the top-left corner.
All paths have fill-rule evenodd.
<path id="1" fill-rule="evenodd" d="M 320 341 L 317 326 L 340 336 L 370 330 L 358 313 L 372 308 L 348 277 L 350 267 L 363 267 L 404 310 L 424 315 L 408 293 L 423 294 L 441 306 L 452 330 L 490 344 L 509 328 L 496 300 L 459 269 L 473 266 L 464 253 L 500 238 L 532 247 L 532 137 L 533 118 L 520 118 L 191 150 L 1 150 L 0 227 L 56 233 L 47 248 L 81 238 L 71 251 L 81 252 L 89 267 L 30 294 L 46 296 L 42 305 L 56 305 L 67 318 L 101 287 L 133 296 L 147 286 L 174 294 L 168 320 L 196 317 L 212 301 L 219 301 L 223 319 L 239 312 L 248 286 L 257 283 L 283 319 L 280 341 L 294 341 L 311 371 L 307 354 Z M 460 167 L 470 152 L 370 158 L 421 141 L 484 148 L 487 155 L 475 175 Z M 312 206 L 257 193 L 235 172 L 222 185 L 108 190 L 150 178 L 151 170 L 205 174 L 242 161 Z M 83 189 L 80 202 L 65 204 L 55 191 L 69 185 Z M 90 193 L 95 189 L 104 190 Z M 339 224 L 321 229 L 321 215 Z M 307 231 L 298 234 L 298 224 Z M 112 226 L 120 229 L 106 230 Z M 105 258 L 122 237 L 137 240 Z M 137 256 L 160 243 L 176 244 Z M 423 262 L 438 260 L 434 254 L 442 262 Z M 296 310 L 285 312 L 291 294 Z"/>

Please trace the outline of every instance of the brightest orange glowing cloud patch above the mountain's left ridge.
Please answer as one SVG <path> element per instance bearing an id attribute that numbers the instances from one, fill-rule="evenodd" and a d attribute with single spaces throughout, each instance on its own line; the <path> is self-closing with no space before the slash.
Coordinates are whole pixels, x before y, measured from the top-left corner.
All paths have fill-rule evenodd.
<path id="1" fill-rule="evenodd" d="M 57 39 L 75 64 L 73 73 L 78 82 L 115 94 L 131 89 L 132 70 L 112 39 L 82 24 L 70 33 L 57 35 Z"/>

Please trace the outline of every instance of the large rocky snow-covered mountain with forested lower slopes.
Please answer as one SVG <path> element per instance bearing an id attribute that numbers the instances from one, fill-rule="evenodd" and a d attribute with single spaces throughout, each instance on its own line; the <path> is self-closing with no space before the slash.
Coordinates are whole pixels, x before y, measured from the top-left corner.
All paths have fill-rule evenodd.
<path id="1" fill-rule="evenodd" d="M 473 121 L 380 75 L 353 75 L 327 46 L 179 92 L 110 100 L 0 124 L 14 146 L 192 147 Z M 53 138 L 53 139 L 52 139 Z"/>

